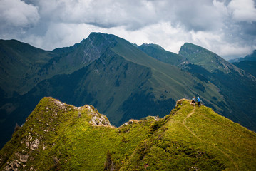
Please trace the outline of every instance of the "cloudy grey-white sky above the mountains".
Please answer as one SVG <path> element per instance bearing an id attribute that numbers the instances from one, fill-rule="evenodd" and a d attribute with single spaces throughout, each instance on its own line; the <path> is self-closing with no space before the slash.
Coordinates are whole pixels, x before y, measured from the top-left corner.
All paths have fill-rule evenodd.
<path id="1" fill-rule="evenodd" d="M 0 0 L 0 38 L 53 50 L 91 32 L 178 53 L 195 43 L 225 59 L 256 49 L 256 0 Z"/>

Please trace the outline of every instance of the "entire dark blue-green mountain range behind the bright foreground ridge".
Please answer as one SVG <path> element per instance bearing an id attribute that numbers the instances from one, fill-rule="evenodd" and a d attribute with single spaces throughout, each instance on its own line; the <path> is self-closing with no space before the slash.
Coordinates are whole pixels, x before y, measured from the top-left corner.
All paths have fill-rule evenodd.
<path id="1" fill-rule="evenodd" d="M 215 112 L 256 130 L 256 78 L 190 43 L 175 54 L 91 33 L 53 51 L 1 40 L 0 56 L 1 146 L 45 96 L 93 105 L 118 126 L 131 118 L 163 117 L 176 100 L 199 95 Z"/>

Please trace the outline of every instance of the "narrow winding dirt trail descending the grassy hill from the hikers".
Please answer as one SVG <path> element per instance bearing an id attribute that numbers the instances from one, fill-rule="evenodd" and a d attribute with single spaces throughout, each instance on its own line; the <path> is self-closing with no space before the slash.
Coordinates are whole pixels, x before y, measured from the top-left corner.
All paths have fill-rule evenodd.
<path id="1" fill-rule="evenodd" d="M 193 115 L 194 113 L 195 113 L 195 106 L 194 106 L 192 112 L 189 113 L 189 114 L 186 116 L 186 118 L 184 118 L 184 120 L 183 120 L 183 125 L 185 126 L 185 128 L 187 128 L 187 130 L 188 130 L 192 135 L 195 136 L 195 138 L 197 138 L 198 140 L 200 140 L 200 141 L 205 142 L 205 143 L 208 144 L 208 142 L 207 142 L 206 140 L 202 140 L 201 138 L 199 138 L 199 137 L 198 137 L 197 135 L 195 135 L 195 133 L 193 133 L 193 131 L 190 130 L 190 128 L 188 128 L 188 126 L 186 125 L 187 119 L 190 118 L 190 116 Z M 225 156 L 232 162 L 232 164 L 235 166 L 235 168 L 236 168 L 237 170 L 239 170 L 239 167 L 238 167 L 237 163 L 234 162 L 234 160 L 232 159 L 232 157 L 230 157 L 230 155 L 228 155 L 226 152 L 220 150 L 220 148 L 216 147 L 215 145 L 212 145 L 212 146 L 213 146 L 215 149 L 217 149 L 217 150 L 219 150 L 220 152 L 222 152 L 222 154 L 225 155 Z"/>

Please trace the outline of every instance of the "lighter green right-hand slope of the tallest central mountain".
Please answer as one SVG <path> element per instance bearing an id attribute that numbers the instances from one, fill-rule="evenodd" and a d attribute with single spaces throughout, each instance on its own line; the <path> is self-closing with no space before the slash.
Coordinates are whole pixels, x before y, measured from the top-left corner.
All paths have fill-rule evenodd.
<path id="1" fill-rule="evenodd" d="M 176 66 L 163 63 L 148 56 L 143 51 L 140 51 L 139 48 L 136 48 L 133 44 L 122 38 L 116 38 L 116 41 L 118 43 L 112 48 L 115 53 L 126 58 L 128 61 L 151 68 L 153 74 L 150 84 L 155 97 L 159 98 L 160 92 L 161 95 L 172 97 L 175 100 L 183 97 L 190 98 L 193 95 L 201 95 L 208 103 L 211 103 L 209 99 L 213 96 L 220 97 L 221 99 L 221 95 L 217 92 L 217 87 L 213 84 L 200 81 L 200 79 L 192 76 L 188 72 L 181 71 Z M 216 105 L 215 108 L 217 108 Z"/>

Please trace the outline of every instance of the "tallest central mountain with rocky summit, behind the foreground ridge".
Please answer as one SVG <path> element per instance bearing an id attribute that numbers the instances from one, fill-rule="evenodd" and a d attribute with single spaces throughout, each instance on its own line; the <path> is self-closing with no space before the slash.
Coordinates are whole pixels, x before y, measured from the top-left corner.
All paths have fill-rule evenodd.
<path id="1" fill-rule="evenodd" d="M 175 101 L 170 103 L 170 100 L 178 100 L 184 96 L 191 98 L 198 94 L 205 102 L 208 101 L 215 109 L 220 110 L 209 100 L 213 96 L 222 99 L 213 84 L 200 81 L 190 73 L 148 56 L 122 38 L 91 33 L 81 43 L 70 48 L 58 48 L 53 53 L 58 53 L 59 58 L 53 58 L 53 62 L 45 66 L 49 70 L 54 66 L 54 70 L 49 71 L 49 75 L 53 77 L 37 83 L 33 90 L 21 97 L 22 105 L 14 111 L 17 115 L 28 104 L 36 105 L 36 101 L 29 100 L 44 96 L 53 96 L 73 105 L 96 105 L 115 125 L 120 125 L 129 118 L 145 117 L 145 110 L 144 114 L 134 113 L 130 116 L 128 111 L 134 108 L 131 101 L 135 108 L 148 108 L 149 114 L 152 108 L 165 103 L 165 111 L 159 113 L 164 115 L 166 110 L 174 107 Z M 73 71 L 90 63 L 88 71 L 77 72 L 80 75 L 73 74 Z M 59 75 L 61 73 L 71 75 Z M 138 106 L 138 101 L 143 103 Z"/>

